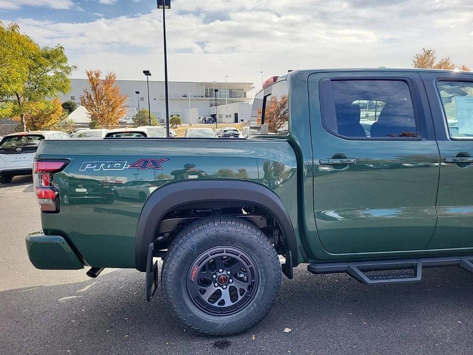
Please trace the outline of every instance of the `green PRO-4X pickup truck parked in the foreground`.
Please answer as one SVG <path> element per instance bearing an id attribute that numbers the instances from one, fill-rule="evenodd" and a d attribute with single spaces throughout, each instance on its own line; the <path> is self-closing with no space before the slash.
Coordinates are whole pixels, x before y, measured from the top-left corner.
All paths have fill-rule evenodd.
<path id="1" fill-rule="evenodd" d="M 255 96 L 251 139 L 44 140 L 38 269 L 145 273 L 208 335 L 260 321 L 307 263 L 365 284 L 473 271 L 473 74 L 293 71 Z M 162 258 L 158 277 L 156 258 Z"/>

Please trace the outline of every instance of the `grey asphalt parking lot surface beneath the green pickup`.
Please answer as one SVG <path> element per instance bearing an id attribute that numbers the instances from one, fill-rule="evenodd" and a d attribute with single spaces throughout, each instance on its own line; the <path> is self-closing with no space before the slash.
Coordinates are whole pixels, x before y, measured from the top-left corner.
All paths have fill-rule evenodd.
<path id="1" fill-rule="evenodd" d="M 368 287 L 301 265 L 263 322 L 206 338 L 176 321 L 160 290 L 147 303 L 136 270 L 90 279 L 34 269 L 24 243 L 40 229 L 30 177 L 0 186 L 0 216 L 1 354 L 473 354 L 473 273 L 459 268 Z"/>

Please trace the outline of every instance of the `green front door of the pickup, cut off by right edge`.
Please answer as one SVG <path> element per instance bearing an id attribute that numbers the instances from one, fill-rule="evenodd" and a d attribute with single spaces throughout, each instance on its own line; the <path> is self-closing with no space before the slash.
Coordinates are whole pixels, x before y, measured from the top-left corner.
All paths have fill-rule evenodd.
<path id="1" fill-rule="evenodd" d="M 440 150 L 438 223 L 429 249 L 473 247 L 473 75 L 422 73 Z"/>

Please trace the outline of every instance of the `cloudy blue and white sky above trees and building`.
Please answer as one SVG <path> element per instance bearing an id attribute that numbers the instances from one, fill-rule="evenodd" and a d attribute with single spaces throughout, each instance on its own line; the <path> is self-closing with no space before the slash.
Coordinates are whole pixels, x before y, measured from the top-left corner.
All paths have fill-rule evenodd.
<path id="1" fill-rule="evenodd" d="M 254 82 L 287 70 L 409 68 L 425 48 L 473 67 L 471 0 L 173 0 L 166 11 L 172 81 Z M 41 46 L 60 44 L 86 69 L 164 79 L 156 0 L 0 0 Z"/>

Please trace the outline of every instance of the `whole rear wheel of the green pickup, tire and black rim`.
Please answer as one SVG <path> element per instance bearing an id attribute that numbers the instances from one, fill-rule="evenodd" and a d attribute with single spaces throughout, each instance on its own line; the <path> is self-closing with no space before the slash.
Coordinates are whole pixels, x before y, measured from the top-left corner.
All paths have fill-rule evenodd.
<path id="1" fill-rule="evenodd" d="M 233 335 L 271 309 L 281 265 L 254 225 L 237 217 L 209 217 L 175 237 L 161 280 L 165 299 L 185 325 L 205 335 Z"/>

